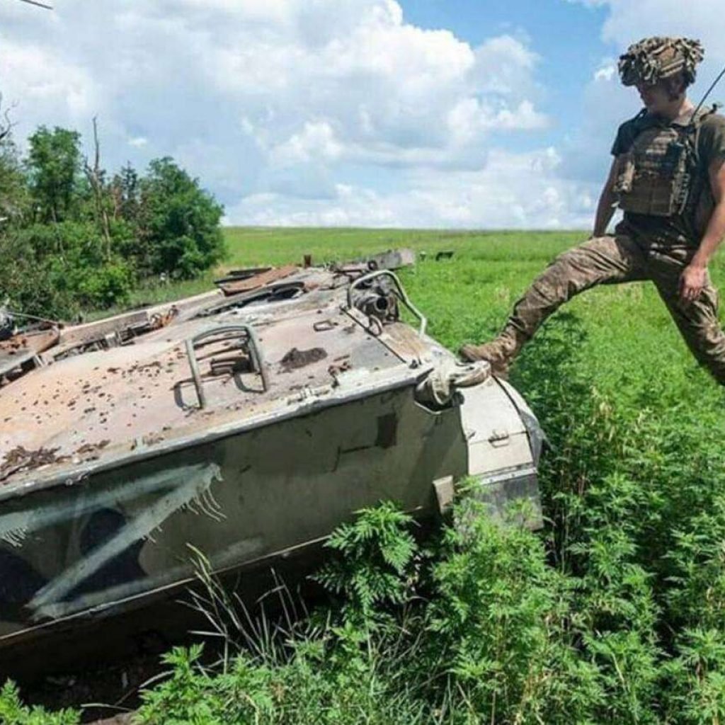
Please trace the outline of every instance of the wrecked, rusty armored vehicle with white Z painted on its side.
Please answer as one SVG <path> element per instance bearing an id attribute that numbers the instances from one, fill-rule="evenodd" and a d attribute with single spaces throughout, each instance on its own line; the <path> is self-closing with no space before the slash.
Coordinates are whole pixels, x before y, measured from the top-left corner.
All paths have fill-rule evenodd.
<path id="1" fill-rule="evenodd" d="M 536 519 L 534 416 L 426 336 L 381 268 L 397 256 L 6 334 L 0 650 L 173 598 L 190 546 L 218 572 L 269 566 L 380 500 L 433 517 L 467 476 Z"/>

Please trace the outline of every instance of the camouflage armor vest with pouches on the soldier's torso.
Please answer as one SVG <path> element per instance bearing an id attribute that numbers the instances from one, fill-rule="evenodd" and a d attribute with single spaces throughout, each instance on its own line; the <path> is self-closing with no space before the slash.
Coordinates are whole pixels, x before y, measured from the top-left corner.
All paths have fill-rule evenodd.
<path id="1" fill-rule="evenodd" d="M 687 210 L 697 174 L 697 129 L 700 118 L 687 126 L 652 125 L 619 155 L 614 191 L 625 212 L 655 217 Z"/>

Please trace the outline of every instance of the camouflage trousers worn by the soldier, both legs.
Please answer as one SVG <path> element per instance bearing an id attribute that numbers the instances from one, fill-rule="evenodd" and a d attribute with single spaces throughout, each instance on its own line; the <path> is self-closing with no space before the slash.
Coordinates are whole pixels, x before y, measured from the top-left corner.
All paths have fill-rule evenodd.
<path id="1" fill-rule="evenodd" d="M 718 293 L 708 276 L 700 297 L 684 303 L 679 278 L 694 249 L 654 247 L 629 236 L 601 236 L 557 257 L 516 302 L 500 336 L 510 357 L 541 323 L 574 295 L 599 284 L 650 280 L 692 355 L 725 384 L 725 334 L 718 322 Z"/>

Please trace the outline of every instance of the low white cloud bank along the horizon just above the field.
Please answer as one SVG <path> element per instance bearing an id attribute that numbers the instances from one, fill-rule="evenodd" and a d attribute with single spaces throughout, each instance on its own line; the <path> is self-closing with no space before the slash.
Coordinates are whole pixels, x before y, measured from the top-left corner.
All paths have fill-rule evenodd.
<path id="1" fill-rule="evenodd" d="M 229 212 L 252 225 L 587 228 L 595 190 L 561 181 L 559 165 L 555 149 L 492 152 L 481 170 L 410 171 L 407 188 L 392 194 L 338 184 L 330 199 L 252 194 Z"/>

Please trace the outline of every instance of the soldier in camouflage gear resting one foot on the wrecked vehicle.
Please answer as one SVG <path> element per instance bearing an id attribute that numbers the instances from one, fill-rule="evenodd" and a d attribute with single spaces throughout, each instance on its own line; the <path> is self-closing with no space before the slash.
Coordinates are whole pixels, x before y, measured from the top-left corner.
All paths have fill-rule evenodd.
<path id="1" fill-rule="evenodd" d="M 594 233 L 564 252 L 516 302 L 493 341 L 464 345 L 466 360 L 489 360 L 505 377 L 513 358 L 563 302 L 590 287 L 650 280 L 692 354 L 725 384 L 725 334 L 708 262 L 725 235 L 725 117 L 687 99 L 698 41 L 645 38 L 619 59 L 625 86 L 636 86 L 644 108 L 623 123 L 602 189 Z M 614 207 L 624 220 L 606 229 Z"/>

